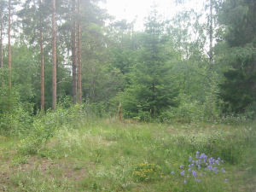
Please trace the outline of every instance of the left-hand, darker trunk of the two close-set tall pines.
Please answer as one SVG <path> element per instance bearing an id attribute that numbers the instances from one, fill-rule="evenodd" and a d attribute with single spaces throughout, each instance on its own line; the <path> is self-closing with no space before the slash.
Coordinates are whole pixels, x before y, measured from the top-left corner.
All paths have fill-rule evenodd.
<path id="1" fill-rule="evenodd" d="M 77 101 L 77 56 L 76 56 L 76 2 L 72 0 L 72 94 L 73 94 L 73 103 Z"/>

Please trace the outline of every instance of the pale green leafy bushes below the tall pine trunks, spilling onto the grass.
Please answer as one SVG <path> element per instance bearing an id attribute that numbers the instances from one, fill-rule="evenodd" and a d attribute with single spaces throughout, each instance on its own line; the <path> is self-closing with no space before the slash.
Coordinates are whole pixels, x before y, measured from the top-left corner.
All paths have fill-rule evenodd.
<path id="1" fill-rule="evenodd" d="M 44 144 L 48 142 L 49 138 L 54 137 L 55 131 L 62 126 L 73 125 L 70 129 L 75 129 L 79 119 L 84 117 L 81 112 L 82 107 L 79 105 L 66 109 L 61 108 L 60 105 L 54 112 L 48 112 L 44 116 L 38 114 L 32 123 L 32 129 L 20 142 L 20 154 L 42 154 L 45 156 L 47 151 L 45 151 Z"/>

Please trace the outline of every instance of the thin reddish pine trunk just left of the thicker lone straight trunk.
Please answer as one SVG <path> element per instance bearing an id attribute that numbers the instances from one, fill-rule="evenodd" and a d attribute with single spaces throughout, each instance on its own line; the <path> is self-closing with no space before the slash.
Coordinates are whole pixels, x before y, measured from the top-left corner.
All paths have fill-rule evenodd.
<path id="1" fill-rule="evenodd" d="M 42 24 L 42 2 L 39 0 L 40 11 L 40 54 L 41 54 L 41 111 L 44 113 L 44 45 L 43 45 L 43 24 Z"/>

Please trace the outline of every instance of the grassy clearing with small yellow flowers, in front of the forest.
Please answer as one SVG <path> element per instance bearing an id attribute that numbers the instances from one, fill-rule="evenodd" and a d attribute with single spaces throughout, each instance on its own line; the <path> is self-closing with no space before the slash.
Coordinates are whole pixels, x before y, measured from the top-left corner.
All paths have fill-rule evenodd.
<path id="1" fill-rule="evenodd" d="M 45 140 L 0 137 L 0 191 L 255 191 L 255 132 L 253 123 L 94 119 L 60 125 Z M 223 159 L 226 172 L 185 184 L 179 166 L 196 151 Z"/>

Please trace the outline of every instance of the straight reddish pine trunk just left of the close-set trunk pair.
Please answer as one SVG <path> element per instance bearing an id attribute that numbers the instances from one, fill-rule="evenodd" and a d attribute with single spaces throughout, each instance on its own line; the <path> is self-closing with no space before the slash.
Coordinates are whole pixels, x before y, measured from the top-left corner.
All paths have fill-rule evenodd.
<path id="1" fill-rule="evenodd" d="M 55 0 L 52 0 L 52 109 L 56 109 L 57 100 L 57 84 L 56 84 L 56 23 L 55 23 L 55 12 L 56 12 Z"/>

